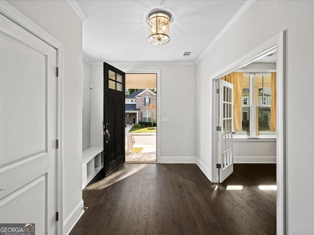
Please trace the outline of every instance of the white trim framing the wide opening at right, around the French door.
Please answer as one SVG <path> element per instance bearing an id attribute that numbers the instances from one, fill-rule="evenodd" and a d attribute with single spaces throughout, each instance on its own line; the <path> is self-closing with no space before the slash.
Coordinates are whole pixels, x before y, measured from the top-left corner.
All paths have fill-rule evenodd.
<path id="1" fill-rule="evenodd" d="M 212 158 L 211 158 L 211 182 L 218 182 L 218 174 L 216 174 L 216 163 L 218 163 L 217 140 L 216 140 L 216 113 L 217 113 L 217 96 L 216 84 L 217 79 L 227 75 L 228 73 L 259 60 L 269 54 L 273 48 L 277 50 L 277 139 L 276 139 L 276 233 L 286 234 L 286 132 L 285 132 L 285 31 L 280 32 L 260 46 L 254 48 L 249 53 L 224 69 L 210 76 L 212 81 Z"/>

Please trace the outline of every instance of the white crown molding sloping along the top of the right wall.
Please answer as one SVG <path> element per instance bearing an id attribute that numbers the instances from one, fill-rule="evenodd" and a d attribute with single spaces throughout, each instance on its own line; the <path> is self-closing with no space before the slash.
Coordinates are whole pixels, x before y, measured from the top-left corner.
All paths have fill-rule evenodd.
<path id="1" fill-rule="evenodd" d="M 212 40 L 209 46 L 204 52 L 197 58 L 195 64 L 200 61 L 209 53 L 209 51 L 225 36 L 225 34 L 235 25 L 235 23 L 244 15 L 244 13 L 256 2 L 256 0 L 247 0 L 241 6 L 241 8 L 235 13 L 234 17 L 226 24 L 226 26 L 220 31 L 220 33 Z"/>

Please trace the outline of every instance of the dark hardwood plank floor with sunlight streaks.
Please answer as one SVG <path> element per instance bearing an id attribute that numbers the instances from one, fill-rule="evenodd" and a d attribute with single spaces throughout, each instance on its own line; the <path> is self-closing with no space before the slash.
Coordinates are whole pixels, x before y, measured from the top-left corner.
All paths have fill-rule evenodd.
<path id="1" fill-rule="evenodd" d="M 84 188 L 70 235 L 275 235 L 276 190 L 260 185 L 276 185 L 275 164 L 235 164 L 223 184 L 196 164 L 124 164 Z"/>

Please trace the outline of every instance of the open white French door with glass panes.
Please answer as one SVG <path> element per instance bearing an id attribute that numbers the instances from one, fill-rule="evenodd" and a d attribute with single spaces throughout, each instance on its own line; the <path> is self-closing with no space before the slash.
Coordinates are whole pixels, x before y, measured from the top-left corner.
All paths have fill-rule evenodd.
<path id="1" fill-rule="evenodd" d="M 218 162 L 219 182 L 222 183 L 234 171 L 233 163 L 233 90 L 234 85 L 219 81 L 219 132 Z"/>

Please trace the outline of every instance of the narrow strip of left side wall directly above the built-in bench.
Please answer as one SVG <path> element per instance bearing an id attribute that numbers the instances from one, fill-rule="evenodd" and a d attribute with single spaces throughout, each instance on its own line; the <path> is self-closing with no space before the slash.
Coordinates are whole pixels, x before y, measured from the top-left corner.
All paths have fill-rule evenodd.
<path id="1" fill-rule="evenodd" d="M 83 146 L 82 150 L 90 148 L 90 65 L 83 61 Z"/>

